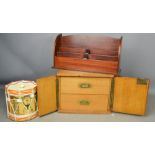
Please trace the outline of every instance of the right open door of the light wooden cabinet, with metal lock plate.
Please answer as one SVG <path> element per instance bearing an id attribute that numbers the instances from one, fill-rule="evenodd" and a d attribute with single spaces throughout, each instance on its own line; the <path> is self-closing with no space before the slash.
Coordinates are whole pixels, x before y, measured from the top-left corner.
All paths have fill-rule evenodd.
<path id="1" fill-rule="evenodd" d="M 148 96 L 149 80 L 129 77 L 114 78 L 114 112 L 144 115 Z"/>

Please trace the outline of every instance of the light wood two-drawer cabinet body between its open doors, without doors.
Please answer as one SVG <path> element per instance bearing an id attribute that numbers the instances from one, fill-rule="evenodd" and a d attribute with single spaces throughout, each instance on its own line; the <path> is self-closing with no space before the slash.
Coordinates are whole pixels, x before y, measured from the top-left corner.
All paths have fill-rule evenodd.
<path id="1" fill-rule="evenodd" d="M 61 74 L 59 71 L 59 112 L 107 113 L 110 110 L 111 77 Z M 64 72 L 63 72 L 64 73 Z M 88 73 L 87 73 L 88 74 Z"/>

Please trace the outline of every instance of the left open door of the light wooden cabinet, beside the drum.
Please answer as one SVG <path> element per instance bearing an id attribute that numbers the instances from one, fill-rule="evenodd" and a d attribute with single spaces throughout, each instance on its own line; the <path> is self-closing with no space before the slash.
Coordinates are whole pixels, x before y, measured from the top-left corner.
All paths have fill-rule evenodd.
<path id="1" fill-rule="evenodd" d="M 57 110 L 56 76 L 37 79 L 39 116 Z"/>

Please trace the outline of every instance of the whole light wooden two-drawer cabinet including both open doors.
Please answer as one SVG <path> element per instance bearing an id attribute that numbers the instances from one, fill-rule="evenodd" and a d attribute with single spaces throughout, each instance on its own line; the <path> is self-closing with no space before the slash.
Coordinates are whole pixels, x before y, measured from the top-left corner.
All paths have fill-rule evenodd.
<path id="1" fill-rule="evenodd" d="M 144 115 L 149 80 L 59 70 L 37 80 L 39 115 L 120 112 Z"/>

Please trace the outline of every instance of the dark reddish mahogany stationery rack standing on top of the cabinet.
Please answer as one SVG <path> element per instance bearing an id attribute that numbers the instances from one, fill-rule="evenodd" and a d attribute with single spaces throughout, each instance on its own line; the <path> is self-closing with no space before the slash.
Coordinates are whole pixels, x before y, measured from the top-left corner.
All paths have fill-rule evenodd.
<path id="1" fill-rule="evenodd" d="M 54 67 L 118 75 L 121 44 L 122 38 L 59 34 L 55 40 Z"/>

